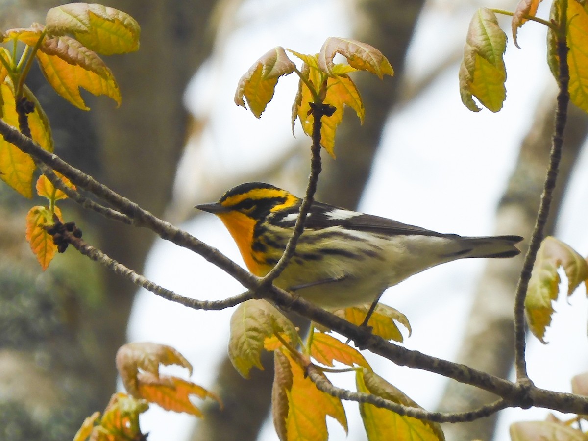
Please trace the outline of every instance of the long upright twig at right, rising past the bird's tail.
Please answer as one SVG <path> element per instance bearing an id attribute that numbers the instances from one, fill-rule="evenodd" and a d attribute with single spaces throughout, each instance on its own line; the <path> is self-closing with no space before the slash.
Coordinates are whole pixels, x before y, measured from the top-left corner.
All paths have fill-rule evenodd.
<path id="1" fill-rule="evenodd" d="M 556 116 L 552 137 L 552 149 L 549 156 L 549 169 L 543 185 L 543 192 L 539 204 L 539 211 L 529 243 L 529 249 L 524 257 L 523 269 L 520 273 L 519 283 L 515 296 L 515 369 L 517 382 L 523 386 L 530 383 L 527 374 L 525 360 L 526 350 L 526 322 L 524 318 L 524 299 L 529 287 L 529 280 L 537 251 L 545 236 L 544 228 L 549 217 L 549 209 L 553 199 L 553 191 L 556 186 L 559 163 L 562 158 L 563 132 L 566 127 L 567 106 L 570 101 L 568 86 L 570 82 L 569 66 L 567 64 L 567 1 L 560 4 L 560 23 L 557 31 L 557 56 L 559 58 L 559 93 L 557 94 Z"/>

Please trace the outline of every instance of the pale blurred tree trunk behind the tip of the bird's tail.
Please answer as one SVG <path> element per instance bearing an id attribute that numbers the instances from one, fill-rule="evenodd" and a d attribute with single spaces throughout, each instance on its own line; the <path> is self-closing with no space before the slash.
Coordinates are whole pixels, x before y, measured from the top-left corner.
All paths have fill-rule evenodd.
<path id="1" fill-rule="evenodd" d="M 533 230 L 553 133 L 555 98 L 544 94 L 510 177 L 496 214 L 496 234 L 524 236 L 523 253 L 513 259 L 489 259 L 479 280 L 465 338 L 456 362 L 506 378 L 514 356 L 513 307 L 523 254 Z M 586 113 L 570 106 L 563 158 L 546 234 L 554 229 L 557 212 L 572 166 L 587 135 Z M 442 412 L 463 412 L 492 402 L 497 397 L 462 383 L 449 382 L 439 405 Z M 492 439 L 496 414 L 471 423 L 443 427 L 448 440 Z"/>

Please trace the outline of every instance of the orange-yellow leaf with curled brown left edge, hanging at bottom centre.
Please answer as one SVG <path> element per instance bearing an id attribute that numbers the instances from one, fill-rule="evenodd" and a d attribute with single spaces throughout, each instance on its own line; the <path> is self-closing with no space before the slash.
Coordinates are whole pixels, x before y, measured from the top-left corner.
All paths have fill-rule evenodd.
<path id="1" fill-rule="evenodd" d="M 347 432 L 341 400 L 317 389 L 288 352 L 276 351 L 274 358 L 278 375 L 272 389 L 272 414 L 280 440 L 326 441 L 327 416 L 335 418 Z"/>

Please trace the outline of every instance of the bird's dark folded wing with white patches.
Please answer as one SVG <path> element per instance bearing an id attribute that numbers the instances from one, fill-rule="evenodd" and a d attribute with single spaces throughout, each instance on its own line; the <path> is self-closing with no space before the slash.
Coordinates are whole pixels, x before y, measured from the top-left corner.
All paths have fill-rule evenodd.
<path id="1" fill-rule="evenodd" d="M 288 211 L 275 214 L 274 221 L 285 227 L 292 227 L 296 222 L 296 213 L 300 206 L 292 206 Z M 386 236 L 393 235 L 421 235 L 421 236 L 447 236 L 432 230 L 408 225 L 396 220 L 382 218 L 380 216 L 366 215 L 348 211 L 326 203 L 315 202 L 310 206 L 306 217 L 305 228 L 322 229 L 333 225 L 340 225 L 346 229 L 381 233 Z"/>

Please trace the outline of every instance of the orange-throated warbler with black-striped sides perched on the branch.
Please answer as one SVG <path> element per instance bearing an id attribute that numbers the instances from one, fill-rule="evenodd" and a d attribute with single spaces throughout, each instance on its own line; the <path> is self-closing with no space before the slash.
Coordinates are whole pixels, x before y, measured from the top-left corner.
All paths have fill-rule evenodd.
<path id="1" fill-rule="evenodd" d="M 302 199 L 276 186 L 248 182 L 218 202 L 196 205 L 224 223 L 245 265 L 265 276 L 292 236 Z M 313 202 L 295 253 L 274 285 L 327 310 L 371 303 L 384 290 L 440 263 L 465 258 L 510 258 L 521 236 L 466 237 Z"/>

